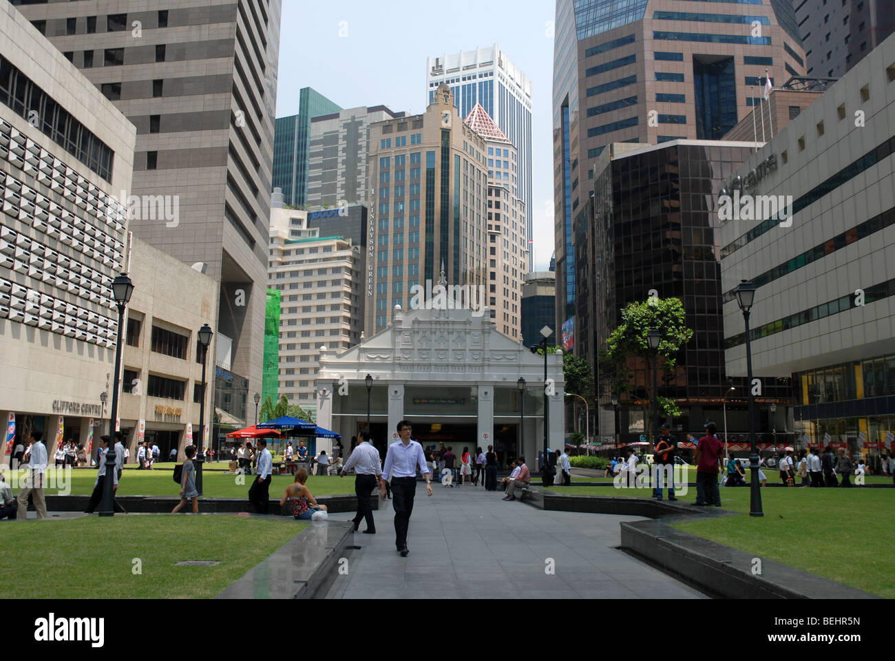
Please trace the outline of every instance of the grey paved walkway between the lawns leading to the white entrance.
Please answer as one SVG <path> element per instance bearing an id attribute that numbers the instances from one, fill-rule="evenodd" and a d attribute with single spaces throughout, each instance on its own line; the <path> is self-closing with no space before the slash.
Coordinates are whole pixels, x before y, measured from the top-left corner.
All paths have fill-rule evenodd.
<path id="1" fill-rule="evenodd" d="M 704 598 L 678 580 L 618 551 L 620 521 L 609 514 L 541 511 L 503 502 L 481 486 L 417 485 L 407 545 L 395 550 L 391 501 L 374 511 L 376 535 L 354 534 L 327 598 Z M 351 513 L 332 514 L 346 521 Z M 366 527 L 361 524 L 361 530 Z M 548 574 L 549 559 L 555 573 Z"/>

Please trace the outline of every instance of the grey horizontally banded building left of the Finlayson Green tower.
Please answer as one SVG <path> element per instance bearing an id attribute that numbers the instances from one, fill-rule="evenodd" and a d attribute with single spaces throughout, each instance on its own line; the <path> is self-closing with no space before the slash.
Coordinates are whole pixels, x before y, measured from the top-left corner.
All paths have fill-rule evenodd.
<path id="1" fill-rule="evenodd" d="M 368 203 L 367 149 L 370 124 L 396 119 L 385 106 L 354 107 L 311 118 L 307 163 L 309 209 Z"/>

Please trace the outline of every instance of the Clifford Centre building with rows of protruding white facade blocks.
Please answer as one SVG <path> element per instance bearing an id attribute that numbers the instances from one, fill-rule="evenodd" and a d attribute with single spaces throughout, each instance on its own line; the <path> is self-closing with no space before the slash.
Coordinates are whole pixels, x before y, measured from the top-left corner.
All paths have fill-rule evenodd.
<path id="1" fill-rule="evenodd" d="M 86 446 L 115 370 L 135 129 L 13 4 L 0 7 L 0 415 Z M 139 286 L 139 283 L 138 283 Z M 58 435 L 57 435 L 58 434 Z"/>

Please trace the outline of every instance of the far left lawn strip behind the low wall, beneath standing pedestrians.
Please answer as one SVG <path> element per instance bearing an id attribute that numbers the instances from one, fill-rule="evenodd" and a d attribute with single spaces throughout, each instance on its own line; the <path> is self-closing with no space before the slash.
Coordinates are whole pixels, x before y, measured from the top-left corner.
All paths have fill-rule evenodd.
<path id="1" fill-rule="evenodd" d="M 50 474 L 55 473 L 55 468 L 50 468 Z M 118 486 L 119 495 L 170 495 L 176 496 L 180 487 L 172 479 L 172 470 L 125 470 Z M 238 484 L 237 477 L 243 481 Z M 94 470 L 72 471 L 72 494 L 90 495 L 93 491 L 93 483 L 97 474 Z M 202 471 L 202 494 L 206 497 L 218 498 L 246 498 L 249 497 L 249 487 L 255 476 L 234 476 L 219 472 Z M 52 480 L 53 475 L 47 476 Z M 6 481 L 11 482 L 10 476 Z M 275 475 L 270 483 L 270 497 L 279 498 L 291 485 L 294 476 Z M 52 482 L 48 482 L 53 484 Z M 354 494 L 354 477 L 338 476 L 310 476 L 305 483 L 314 495 Z M 47 488 L 47 495 L 57 493 L 55 489 Z M 201 505 L 200 505 L 201 511 Z"/>

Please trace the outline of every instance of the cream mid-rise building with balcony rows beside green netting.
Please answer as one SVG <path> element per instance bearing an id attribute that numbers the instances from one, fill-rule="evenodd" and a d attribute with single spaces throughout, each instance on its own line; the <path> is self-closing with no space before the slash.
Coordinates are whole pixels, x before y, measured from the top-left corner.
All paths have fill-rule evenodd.
<path id="1" fill-rule="evenodd" d="M 314 413 L 321 348 L 338 354 L 361 339 L 362 246 L 321 236 L 308 212 L 273 209 L 268 274 L 280 293 L 279 397 Z"/>

